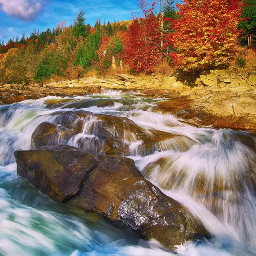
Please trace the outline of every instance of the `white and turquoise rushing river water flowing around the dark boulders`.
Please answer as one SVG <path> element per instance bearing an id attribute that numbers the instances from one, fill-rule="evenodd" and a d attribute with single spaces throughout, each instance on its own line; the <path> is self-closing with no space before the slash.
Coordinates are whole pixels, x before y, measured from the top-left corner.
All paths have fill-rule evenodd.
<path id="1" fill-rule="evenodd" d="M 13 152 L 29 149 L 36 127 L 56 123 L 67 111 L 124 116 L 148 134 L 170 136 L 151 151 L 131 132 L 122 134 L 129 155 L 146 178 L 201 219 L 213 239 L 177 245 L 185 256 L 256 254 L 256 137 L 242 131 L 202 128 L 162 113 L 156 103 L 108 91 L 84 97 L 46 97 L 0 106 L 1 256 L 168 256 L 157 241 L 145 242 L 113 227 L 98 215 L 58 204 L 16 174 Z M 73 127 L 72 119 L 67 119 Z M 84 148 L 97 140 L 97 116 L 82 120 L 82 130 L 67 143 Z M 82 141 L 82 143 L 81 143 Z M 101 142 L 99 142 L 100 144 Z M 88 143 L 87 143 L 88 144 Z M 84 148 L 99 151 L 99 148 Z"/>

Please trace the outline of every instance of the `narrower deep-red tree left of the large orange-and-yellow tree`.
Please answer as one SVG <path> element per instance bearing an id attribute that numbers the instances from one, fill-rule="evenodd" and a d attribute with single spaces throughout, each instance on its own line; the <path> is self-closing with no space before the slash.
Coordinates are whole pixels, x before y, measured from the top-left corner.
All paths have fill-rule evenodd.
<path id="1" fill-rule="evenodd" d="M 124 59 L 137 72 L 151 72 L 162 57 L 160 49 L 160 20 L 153 14 L 155 2 L 149 5 L 139 0 L 143 17 L 133 19 L 125 37 Z"/>

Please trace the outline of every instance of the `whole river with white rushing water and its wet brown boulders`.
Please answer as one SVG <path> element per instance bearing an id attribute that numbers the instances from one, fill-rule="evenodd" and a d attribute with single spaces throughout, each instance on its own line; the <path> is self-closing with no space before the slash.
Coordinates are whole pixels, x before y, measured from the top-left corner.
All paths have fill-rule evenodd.
<path id="1" fill-rule="evenodd" d="M 177 118 L 195 90 L 1 105 L 1 252 L 253 255 L 255 135 Z"/>

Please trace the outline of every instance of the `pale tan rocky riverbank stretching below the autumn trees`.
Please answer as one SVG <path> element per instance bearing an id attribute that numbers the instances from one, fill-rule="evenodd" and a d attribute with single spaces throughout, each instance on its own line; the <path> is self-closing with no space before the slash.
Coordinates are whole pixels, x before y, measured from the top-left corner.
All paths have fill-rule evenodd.
<path id="1" fill-rule="evenodd" d="M 159 110 L 171 112 L 178 118 L 212 125 L 218 128 L 233 128 L 256 133 L 256 73 L 226 73 L 214 70 L 201 75 L 193 87 L 175 77 L 141 76 L 126 74 L 116 78 L 88 77 L 50 84 L 0 85 L 0 102 L 12 104 L 26 99 L 45 96 L 82 96 L 121 90 L 125 93 L 166 98 L 157 103 Z"/>

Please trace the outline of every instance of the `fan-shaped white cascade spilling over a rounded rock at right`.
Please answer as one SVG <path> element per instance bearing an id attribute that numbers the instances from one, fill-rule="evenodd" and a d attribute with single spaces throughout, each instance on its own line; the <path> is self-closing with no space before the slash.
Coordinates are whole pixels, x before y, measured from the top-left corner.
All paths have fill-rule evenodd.
<path id="1" fill-rule="evenodd" d="M 248 136 L 250 140 L 255 146 Z M 188 151 L 159 152 L 139 160 L 137 166 L 161 188 L 185 193 L 204 204 L 233 227 L 244 243 L 255 246 L 255 162 L 255 151 L 236 132 L 221 129 Z"/>

